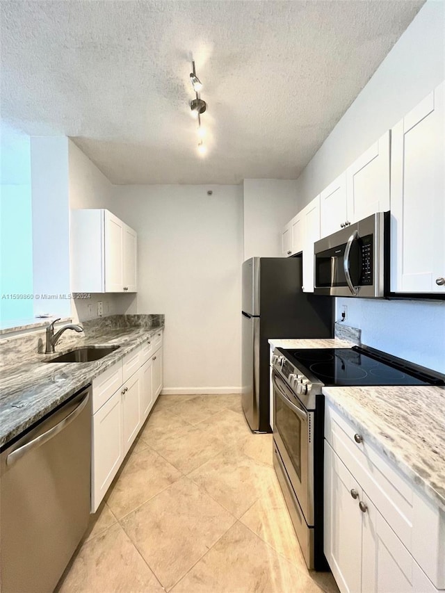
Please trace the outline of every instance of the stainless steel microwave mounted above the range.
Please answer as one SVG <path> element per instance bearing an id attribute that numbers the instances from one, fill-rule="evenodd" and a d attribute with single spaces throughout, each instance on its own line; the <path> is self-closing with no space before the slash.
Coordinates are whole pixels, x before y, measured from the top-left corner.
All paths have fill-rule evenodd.
<path id="1" fill-rule="evenodd" d="M 314 244 L 314 293 L 385 296 L 389 212 L 378 212 Z"/>

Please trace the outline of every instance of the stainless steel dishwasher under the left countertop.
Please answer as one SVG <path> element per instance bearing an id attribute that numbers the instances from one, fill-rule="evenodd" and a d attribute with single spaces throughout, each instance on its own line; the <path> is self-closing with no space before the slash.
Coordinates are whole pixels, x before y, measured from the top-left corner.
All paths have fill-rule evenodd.
<path id="1" fill-rule="evenodd" d="M 0 588 L 50 593 L 88 526 L 91 387 L 0 455 Z"/>

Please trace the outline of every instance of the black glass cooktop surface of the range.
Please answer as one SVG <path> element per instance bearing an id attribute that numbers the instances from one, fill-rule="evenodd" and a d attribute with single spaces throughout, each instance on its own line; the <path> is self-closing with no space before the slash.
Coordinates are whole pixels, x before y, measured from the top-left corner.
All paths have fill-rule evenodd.
<path id="1" fill-rule="evenodd" d="M 321 348 L 316 350 L 285 350 L 291 362 L 304 373 L 318 377 L 325 386 L 345 385 L 443 385 L 434 374 L 410 363 L 391 362 L 369 355 L 361 348 Z"/>

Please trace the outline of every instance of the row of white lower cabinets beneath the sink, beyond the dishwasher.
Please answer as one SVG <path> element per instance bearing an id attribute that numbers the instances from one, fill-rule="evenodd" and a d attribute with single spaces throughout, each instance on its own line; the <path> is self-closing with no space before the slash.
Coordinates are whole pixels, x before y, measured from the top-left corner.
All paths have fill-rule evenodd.
<path id="1" fill-rule="evenodd" d="M 97 511 L 162 386 L 162 332 L 92 381 L 91 512 Z"/>

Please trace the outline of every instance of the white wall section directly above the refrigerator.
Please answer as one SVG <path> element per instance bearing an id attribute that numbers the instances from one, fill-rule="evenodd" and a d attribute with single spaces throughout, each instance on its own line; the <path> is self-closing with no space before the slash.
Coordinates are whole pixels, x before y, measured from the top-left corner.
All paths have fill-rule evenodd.
<path id="1" fill-rule="evenodd" d="M 296 181 L 244 180 L 244 259 L 281 257 L 281 231 L 298 212 Z"/>

